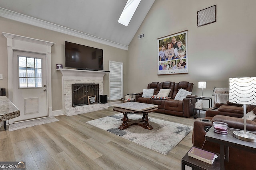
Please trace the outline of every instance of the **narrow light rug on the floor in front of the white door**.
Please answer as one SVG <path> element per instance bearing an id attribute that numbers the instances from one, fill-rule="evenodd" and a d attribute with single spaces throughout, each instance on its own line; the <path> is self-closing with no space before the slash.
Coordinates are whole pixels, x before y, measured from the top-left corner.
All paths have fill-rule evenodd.
<path id="1" fill-rule="evenodd" d="M 51 123 L 54 121 L 59 121 L 59 120 L 56 119 L 55 117 L 46 117 L 46 118 L 42 118 L 42 119 L 14 123 L 14 124 L 9 125 L 9 131 L 15 131 L 18 129 L 32 127 L 32 126 L 36 126 L 36 125 L 42 125 L 42 124 Z"/>

